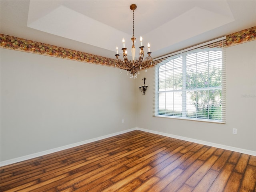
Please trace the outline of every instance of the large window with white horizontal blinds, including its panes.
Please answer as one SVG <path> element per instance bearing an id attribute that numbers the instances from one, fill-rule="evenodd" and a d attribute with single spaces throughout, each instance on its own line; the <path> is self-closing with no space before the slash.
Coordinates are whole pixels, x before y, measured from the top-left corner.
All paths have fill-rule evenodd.
<path id="1" fill-rule="evenodd" d="M 153 116 L 225 122 L 224 40 L 155 60 Z"/>

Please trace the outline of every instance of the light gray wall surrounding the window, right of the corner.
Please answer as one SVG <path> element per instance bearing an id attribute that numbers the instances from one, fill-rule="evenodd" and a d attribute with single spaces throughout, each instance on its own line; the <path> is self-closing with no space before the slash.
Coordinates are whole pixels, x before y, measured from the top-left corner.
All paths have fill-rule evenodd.
<path id="1" fill-rule="evenodd" d="M 256 41 L 226 49 L 226 124 L 152 117 L 153 72 L 140 75 L 149 87 L 137 92 L 139 128 L 256 151 Z"/>

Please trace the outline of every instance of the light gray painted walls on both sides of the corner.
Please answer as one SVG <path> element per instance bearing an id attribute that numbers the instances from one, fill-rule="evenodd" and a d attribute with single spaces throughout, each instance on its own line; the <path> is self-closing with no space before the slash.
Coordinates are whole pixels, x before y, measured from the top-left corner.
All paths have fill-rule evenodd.
<path id="1" fill-rule="evenodd" d="M 256 41 L 227 48 L 226 124 L 152 117 L 153 68 L 134 80 L 116 68 L 0 51 L 1 161 L 134 127 L 256 151 Z"/>

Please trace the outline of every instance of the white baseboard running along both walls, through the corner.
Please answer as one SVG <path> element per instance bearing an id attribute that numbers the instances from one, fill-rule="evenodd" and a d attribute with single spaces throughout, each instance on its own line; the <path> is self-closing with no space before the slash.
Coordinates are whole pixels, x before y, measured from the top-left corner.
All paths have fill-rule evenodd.
<path id="1" fill-rule="evenodd" d="M 92 139 L 89 139 L 89 140 L 77 142 L 77 143 L 74 143 L 74 144 L 70 144 L 70 145 L 66 145 L 66 146 L 62 146 L 62 147 L 58 147 L 58 148 L 54 148 L 54 149 L 50 149 L 50 150 L 46 150 L 46 151 L 42 151 L 42 152 L 38 152 L 38 153 L 26 155 L 26 156 L 14 158 L 14 159 L 2 161 L 2 162 L 0 162 L 0 166 L 5 166 L 5 165 L 21 162 L 21 161 L 24 161 L 24 160 L 40 157 L 40 156 L 43 156 L 43 155 L 47 155 L 47 154 L 50 154 L 50 153 L 58 152 L 58 151 L 69 149 L 69 148 L 76 147 L 76 146 L 80 146 L 80 145 L 87 144 L 87 143 L 90 143 L 90 142 L 106 139 L 106 138 L 109 138 L 109 137 L 112 137 L 112 136 L 120 135 L 120 134 L 127 133 L 127 132 L 134 131 L 134 130 L 141 130 L 141 131 L 144 131 L 144 132 L 154 133 L 154 134 L 158 134 L 158 135 L 162 135 L 162 136 L 181 139 L 181 140 L 184 140 L 184 141 L 190 141 L 190 142 L 194 142 L 194 143 L 198 143 L 198 144 L 203 144 L 203 145 L 207 145 L 207 146 L 212 146 L 212 147 L 216 147 L 216 148 L 221 148 L 221 149 L 225 149 L 225 150 L 230 150 L 230 151 L 235 151 L 235 152 L 239 152 L 239 153 L 244 153 L 244 154 L 256 156 L 256 151 L 251 151 L 251 150 L 246 150 L 246 149 L 241 149 L 241 148 L 226 146 L 226 145 L 222 145 L 222 144 L 216 144 L 216 143 L 212 143 L 212 142 L 196 140 L 196 139 L 192 139 L 192 138 L 187 138 L 187 137 L 182 137 L 182 136 L 178 136 L 178 135 L 172 135 L 172 134 L 168 134 L 168 133 L 164 133 L 164 132 L 158 132 L 158 131 L 153 131 L 153 130 L 148 130 L 148 129 L 143 129 L 143 128 L 136 127 L 136 128 L 132 128 L 132 129 L 128 129 L 128 130 L 108 134 L 108 135 L 105 135 L 105 136 L 101 136 L 101 137 L 92 138 Z"/>

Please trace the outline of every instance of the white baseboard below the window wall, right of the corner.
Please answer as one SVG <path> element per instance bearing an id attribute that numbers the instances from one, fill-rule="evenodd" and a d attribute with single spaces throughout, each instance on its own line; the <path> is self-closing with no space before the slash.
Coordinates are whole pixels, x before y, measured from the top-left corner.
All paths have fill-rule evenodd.
<path id="1" fill-rule="evenodd" d="M 226 146 L 226 145 L 222 145 L 222 144 L 217 144 L 217 143 L 212 143 L 212 142 L 192 139 L 192 138 L 188 138 L 188 137 L 182 137 L 182 136 L 178 136 L 178 135 L 172 135 L 172 134 L 168 134 L 168 133 L 163 133 L 163 132 L 158 132 L 158 131 L 138 128 L 138 127 L 136 127 L 136 130 L 141 130 L 141 131 L 145 131 L 145 132 L 149 132 L 149 133 L 154 133 L 154 134 L 158 134 L 158 135 L 162 135 L 162 136 L 167 136 L 167 137 L 171 137 L 171 138 L 176 138 L 176 139 L 180 139 L 180 140 L 184 140 L 184 141 L 190 141 L 190 142 L 194 142 L 194 143 L 198 143 L 198 144 L 203 144 L 203 145 L 207 145 L 207 146 L 211 146 L 211 147 L 216 147 L 216 148 L 221 148 L 221 149 L 225 149 L 225 150 L 230 150 L 230 151 L 235 151 L 235 152 L 239 152 L 239 153 L 244 153 L 244 154 L 256 156 L 256 151 L 251 151 L 251 150 L 246 150 L 246 149 Z"/>

